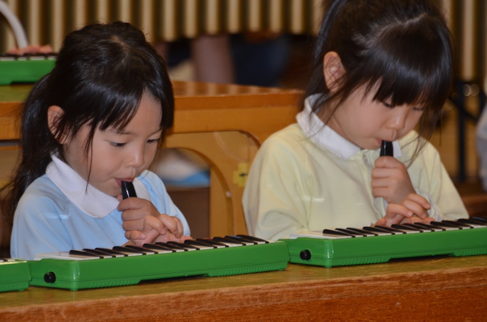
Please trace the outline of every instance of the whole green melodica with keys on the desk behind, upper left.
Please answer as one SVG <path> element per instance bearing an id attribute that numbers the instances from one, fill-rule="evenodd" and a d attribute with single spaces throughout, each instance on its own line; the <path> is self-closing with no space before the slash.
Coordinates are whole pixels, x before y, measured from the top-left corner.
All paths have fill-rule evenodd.
<path id="1" fill-rule="evenodd" d="M 0 55 L 0 85 L 35 83 L 51 72 L 56 54 Z"/>

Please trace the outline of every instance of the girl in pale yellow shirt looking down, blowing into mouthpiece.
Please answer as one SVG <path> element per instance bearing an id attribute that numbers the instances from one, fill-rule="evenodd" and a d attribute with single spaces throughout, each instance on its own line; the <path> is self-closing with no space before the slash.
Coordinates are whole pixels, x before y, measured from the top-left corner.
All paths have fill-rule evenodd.
<path id="1" fill-rule="evenodd" d="M 252 164 L 243 198 L 249 233 L 278 239 L 468 217 L 426 141 L 453 78 L 439 8 L 427 0 L 326 4 L 298 122 L 266 140 Z M 393 157 L 379 157 L 383 141 L 393 142 Z"/>

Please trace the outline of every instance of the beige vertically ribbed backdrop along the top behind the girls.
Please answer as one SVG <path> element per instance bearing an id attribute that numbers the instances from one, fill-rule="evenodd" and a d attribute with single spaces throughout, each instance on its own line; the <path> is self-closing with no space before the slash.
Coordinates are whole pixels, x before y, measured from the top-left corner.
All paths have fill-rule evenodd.
<path id="1" fill-rule="evenodd" d="M 67 33 L 97 21 L 129 21 L 150 41 L 174 41 L 253 31 L 312 35 L 321 19 L 321 0 L 5 1 L 24 25 L 30 43 L 49 43 L 56 50 Z M 438 1 L 455 39 L 459 77 L 482 82 L 487 61 L 487 0 Z M 0 52 L 15 45 L 9 26 L 0 20 Z"/>

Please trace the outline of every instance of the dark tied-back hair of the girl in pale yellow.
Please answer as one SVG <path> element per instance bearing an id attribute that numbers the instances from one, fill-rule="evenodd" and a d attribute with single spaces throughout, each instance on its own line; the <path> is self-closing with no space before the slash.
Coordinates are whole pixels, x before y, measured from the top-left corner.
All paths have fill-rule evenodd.
<path id="1" fill-rule="evenodd" d="M 418 131 L 429 139 L 453 81 L 450 31 L 429 0 L 327 0 L 301 99 L 318 94 L 312 110 L 327 123 L 339 103 L 360 86 L 392 106 L 424 104 Z M 337 52 L 345 69 L 333 95 L 323 76 L 323 56 Z M 335 101 L 337 104 L 329 104 Z M 418 137 L 418 140 L 419 138 Z M 415 155 L 424 141 L 417 145 Z M 414 157 L 413 157 L 414 158 Z"/>

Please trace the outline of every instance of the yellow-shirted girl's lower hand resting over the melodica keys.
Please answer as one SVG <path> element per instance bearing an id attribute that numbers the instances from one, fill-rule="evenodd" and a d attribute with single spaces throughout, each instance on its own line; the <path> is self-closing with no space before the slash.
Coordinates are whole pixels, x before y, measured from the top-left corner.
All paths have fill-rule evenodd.
<path id="1" fill-rule="evenodd" d="M 432 217 L 428 217 L 427 210 L 430 208 L 431 205 L 425 198 L 417 194 L 409 194 L 401 203 L 390 203 L 386 215 L 375 225 L 391 227 L 393 224 L 430 223 L 433 221 Z"/>

